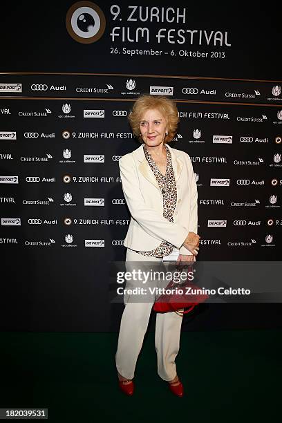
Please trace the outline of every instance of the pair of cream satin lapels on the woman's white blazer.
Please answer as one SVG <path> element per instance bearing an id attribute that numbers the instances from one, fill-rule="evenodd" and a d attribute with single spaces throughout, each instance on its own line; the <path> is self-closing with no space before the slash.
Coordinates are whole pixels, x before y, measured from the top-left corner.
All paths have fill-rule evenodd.
<path id="1" fill-rule="evenodd" d="M 169 147 L 168 144 L 167 144 L 167 147 Z M 169 147 L 169 151 L 171 153 L 171 163 L 172 163 L 172 167 L 173 167 L 174 177 L 175 177 L 175 180 L 177 182 L 179 177 L 180 177 L 180 173 L 182 171 L 183 162 L 178 157 L 177 150 L 171 149 L 171 147 Z M 158 186 L 158 182 L 157 182 L 157 180 L 156 180 L 156 178 L 155 178 L 155 176 L 154 176 L 154 174 L 151 170 L 151 167 L 150 167 L 149 163 L 147 162 L 147 159 L 144 155 L 142 144 L 140 145 L 140 147 L 138 147 L 138 149 L 133 151 L 133 154 L 134 154 L 135 158 L 138 160 L 138 162 L 140 162 L 140 164 L 138 166 L 138 170 L 140 171 L 140 173 L 142 173 L 144 178 L 149 180 L 149 182 L 151 182 L 151 184 L 153 184 L 156 188 L 160 189 L 159 186 Z"/>

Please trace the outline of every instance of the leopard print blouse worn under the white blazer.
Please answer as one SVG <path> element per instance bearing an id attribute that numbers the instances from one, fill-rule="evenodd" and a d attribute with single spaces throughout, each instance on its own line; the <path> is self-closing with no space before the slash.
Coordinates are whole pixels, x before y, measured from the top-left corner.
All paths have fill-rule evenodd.
<path id="1" fill-rule="evenodd" d="M 173 213 L 176 208 L 177 202 L 177 189 L 176 189 L 176 180 L 174 178 L 173 167 L 171 163 L 171 153 L 167 145 L 164 144 L 165 149 L 167 150 L 167 169 L 165 176 L 160 173 L 156 163 L 151 158 L 151 154 L 148 152 L 145 144 L 143 144 L 144 155 L 147 158 L 153 174 L 158 182 L 158 186 L 162 191 L 162 205 L 163 205 L 163 216 L 169 222 L 174 222 Z M 155 250 L 151 251 L 136 251 L 143 256 L 153 256 L 153 257 L 163 257 L 168 256 L 173 250 L 173 245 L 167 241 L 162 241 Z"/>

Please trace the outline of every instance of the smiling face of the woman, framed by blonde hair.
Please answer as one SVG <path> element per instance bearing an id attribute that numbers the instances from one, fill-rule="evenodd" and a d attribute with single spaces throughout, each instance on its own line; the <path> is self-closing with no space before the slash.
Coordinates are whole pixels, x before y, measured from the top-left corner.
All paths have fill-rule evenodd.
<path id="1" fill-rule="evenodd" d="M 141 116 L 139 129 L 144 143 L 156 147 L 164 140 L 167 120 L 158 109 L 149 109 Z"/>

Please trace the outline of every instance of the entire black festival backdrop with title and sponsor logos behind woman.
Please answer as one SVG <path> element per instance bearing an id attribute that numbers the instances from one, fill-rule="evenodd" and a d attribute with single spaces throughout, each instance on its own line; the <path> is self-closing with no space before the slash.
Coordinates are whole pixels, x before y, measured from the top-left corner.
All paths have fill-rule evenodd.
<path id="1" fill-rule="evenodd" d="M 181 2 L 62 1 L 40 25 L 37 7 L 18 5 L 12 38 L 1 37 L 1 330 L 118 330 L 109 268 L 125 259 L 130 219 L 118 160 L 140 145 L 128 115 L 143 93 L 178 106 L 170 145 L 194 166 L 198 260 L 279 261 L 282 81 L 267 66 L 277 42 L 267 15 L 269 43 L 236 12 L 223 25 L 220 12 Z M 208 303 L 183 326 L 273 327 L 279 311 Z"/>

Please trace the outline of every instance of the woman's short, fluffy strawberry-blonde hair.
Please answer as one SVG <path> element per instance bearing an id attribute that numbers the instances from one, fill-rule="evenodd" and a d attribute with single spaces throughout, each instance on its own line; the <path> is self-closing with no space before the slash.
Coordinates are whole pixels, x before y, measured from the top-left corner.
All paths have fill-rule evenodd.
<path id="1" fill-rule="evenodd" d="M 150 109 L 157 109 L 167 120 L 168 135 L 165 135 L 164 143 L 173 140 L 179 122 L 178 109 L 176 103 L 164 95 L 144 94 L 135 101 L 133 109 L 129 113 L 129 124 L 134 135 L 142 142 L 139 125 L 144 112 Z"/>

